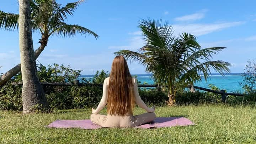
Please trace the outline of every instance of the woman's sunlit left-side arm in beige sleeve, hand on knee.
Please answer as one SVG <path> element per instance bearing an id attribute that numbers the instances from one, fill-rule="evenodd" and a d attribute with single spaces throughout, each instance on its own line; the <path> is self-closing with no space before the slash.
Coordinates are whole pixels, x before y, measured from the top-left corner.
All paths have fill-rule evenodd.
<path id="1" fill-rule="evenodd" d="M 99 113 L 107 104 L 107 98 L 108 98 L 107 80 L 108 80 L 108 78 L 106 78 L 103 82 L 103 94 L 102 94 L 102 98 L 101 98 L 101 101 L 100 101 L 98 107 L 96 108 L 96 110 L 94 110 L 92 108 L 92 113 L 94 113 L 94 114 Z"/>

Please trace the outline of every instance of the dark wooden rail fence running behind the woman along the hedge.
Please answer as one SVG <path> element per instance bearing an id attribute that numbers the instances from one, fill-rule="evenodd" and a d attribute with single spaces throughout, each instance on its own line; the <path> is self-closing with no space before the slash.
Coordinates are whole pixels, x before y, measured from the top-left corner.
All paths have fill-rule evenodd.
<path id="1" fill-rule="evenodd" d="M 65 82 L 65 83 L 40 82 L 40 84 L 43 85 L 43 86 L 71 86 L 71 85 L 100 86 L 100 87 L 103 86 L 103 84 L 80 83 L 79 80 L 74 80 L 74 83 L 70 83 L 70 82 Z M 22 82 L 13 82 L 12 85 L 22 85 Z M 158 85 L 138 85 L 138 87 L 158 87 Z M 185 87 L 191 88 L 191 86 L 185 86 Z M 223 102 L 226 102 L 226 96 L 227 95 L 230 95 L 230 96 L 244 96 L 244 94 L 229 93 L 229 92 L 225 92 L 225 90 L 215 91 L 215 90 L 206 89 L 206 88 L 199 87 L 199 86 L 193 86 L 193 87 L 194 87 L 194 89 L 203 90 L 203 91 L 207 91 L 207 92 L 212 92 L 214 94 L 220 94 L 220 95 L 222 95 L 222 101 Z"/>

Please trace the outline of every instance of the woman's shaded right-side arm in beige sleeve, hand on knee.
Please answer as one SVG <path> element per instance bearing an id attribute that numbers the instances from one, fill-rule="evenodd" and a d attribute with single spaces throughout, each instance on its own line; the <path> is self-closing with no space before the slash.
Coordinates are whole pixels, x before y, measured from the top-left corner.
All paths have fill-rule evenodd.
<path id="1" fill-rule="evenodd" d="M 135 102 L 137 103 L 137 105 L 139 105 L 141 108 L 143 108 L 147 112 L 154 112 L 155 111 L 154 108 L 149 108 L 148 106 L 146 106 L 144 101 L 140 98 L 139 91 L 138 91 L 138 84 L 137 84 L 136 79 L 135 79 L 135 82 L 134 82 L 133 91 L 134 91 Z"/>

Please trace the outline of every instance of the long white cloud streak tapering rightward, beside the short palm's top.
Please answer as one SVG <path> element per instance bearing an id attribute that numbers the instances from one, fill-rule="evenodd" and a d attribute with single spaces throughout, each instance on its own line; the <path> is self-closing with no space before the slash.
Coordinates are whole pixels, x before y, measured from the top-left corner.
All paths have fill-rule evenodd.
<path id="1" fill-rule="evenodd" d="M 222 23 L 193 23 L 188 25 L 173 25 L 175 30 L 174 34 L 178 36 L 183 32 L 193 33 L 195 36 L 201 36 L 204 34 L 212 33 L 214 31 L 220 31 L 224 28 L 239 26 L 245 22 L 222 22 Z"/>

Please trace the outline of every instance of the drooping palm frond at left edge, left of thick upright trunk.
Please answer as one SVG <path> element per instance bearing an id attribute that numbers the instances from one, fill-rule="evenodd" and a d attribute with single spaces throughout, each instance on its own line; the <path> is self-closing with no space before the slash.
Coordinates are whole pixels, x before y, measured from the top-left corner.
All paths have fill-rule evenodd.
<path id="1" fill-rule="evenodd" d="M 0 11 L 0 29 L 17 30 L 18 17 L 18 14 Z"/>

